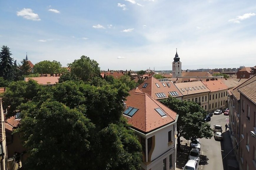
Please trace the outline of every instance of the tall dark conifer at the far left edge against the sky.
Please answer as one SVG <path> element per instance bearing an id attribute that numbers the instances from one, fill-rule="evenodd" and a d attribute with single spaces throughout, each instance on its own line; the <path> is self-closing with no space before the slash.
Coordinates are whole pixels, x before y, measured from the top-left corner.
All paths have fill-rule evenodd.
<path id="1" fill-rule="evenodd" d="M 12 81 L 16 74 L 16 62 L 11 58 L 10 48 L 3 45 L 0 52 L 0 77 Z"/>

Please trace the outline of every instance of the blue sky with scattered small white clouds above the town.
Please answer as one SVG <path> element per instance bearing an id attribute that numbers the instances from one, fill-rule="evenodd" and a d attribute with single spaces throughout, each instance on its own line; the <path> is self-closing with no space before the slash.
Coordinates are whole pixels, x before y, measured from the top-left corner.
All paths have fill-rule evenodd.
<path id="1" fill-rule="evenodd" d="M 20 62 L 68 63 L 88 56 L 102 70 L 256 65 L 251 0 L 0 1 L 0 46 Z"/>

